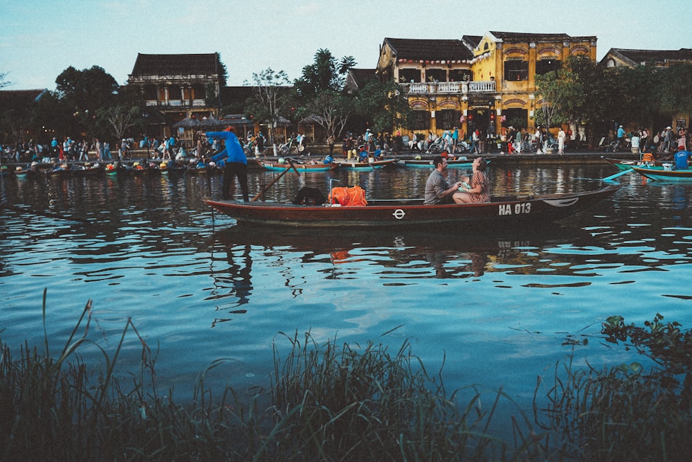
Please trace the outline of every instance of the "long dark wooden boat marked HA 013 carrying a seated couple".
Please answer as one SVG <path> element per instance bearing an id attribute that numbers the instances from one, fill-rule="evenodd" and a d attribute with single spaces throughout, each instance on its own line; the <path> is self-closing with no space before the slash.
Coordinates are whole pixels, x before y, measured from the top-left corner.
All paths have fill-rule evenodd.
<path id="1" fill-rule="evenodd" d="M 572 215 L 612 196 L 621 186 L 551 195 L 493 197 L 484 204 L 424 205 L 423 199 L 370 199 L 367 206 L 293 205 L 204 199 L 238 222 L 263 226 L 313 228 L 440 229 L 455 227 L 504 229 L 536 226 Z"/>

